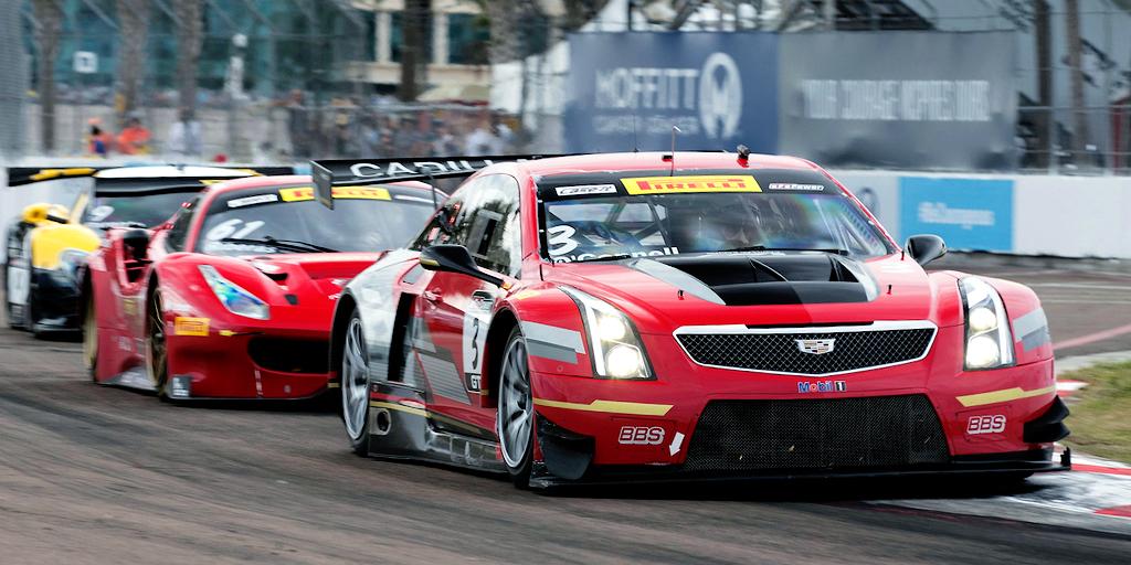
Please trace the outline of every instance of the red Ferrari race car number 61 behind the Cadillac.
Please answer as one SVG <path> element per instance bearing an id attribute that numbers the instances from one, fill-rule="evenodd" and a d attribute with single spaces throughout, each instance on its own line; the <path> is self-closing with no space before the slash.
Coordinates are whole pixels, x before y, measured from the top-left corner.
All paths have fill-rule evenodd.
<path id="1" fill-rule="evenodd" d="M 409 183 L 333 198 L 334 211 L 320 206 L 309 176 L 249 177 L 209 186 L 156 229 L 111 231 L 83 289 L 94 381 L 174 400 L 325 391 L 342 287 L 443 197 Z"/>

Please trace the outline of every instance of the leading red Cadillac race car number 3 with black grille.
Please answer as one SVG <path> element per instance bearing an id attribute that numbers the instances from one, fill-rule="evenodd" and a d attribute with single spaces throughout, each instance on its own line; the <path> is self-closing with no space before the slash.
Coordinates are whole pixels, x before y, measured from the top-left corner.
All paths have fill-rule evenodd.
<path id="1" fill-rule="evenodd" d="M 810 162 L 395 165 L 314 176 L 328 193 L 478 171 L 338 301 L 330 363 L 360 454 L 523 486 L 1070 464 L 1052 458 L 1068 410 L 1034 293 L 925 271 L 939 237 L 900 249 Z"/>

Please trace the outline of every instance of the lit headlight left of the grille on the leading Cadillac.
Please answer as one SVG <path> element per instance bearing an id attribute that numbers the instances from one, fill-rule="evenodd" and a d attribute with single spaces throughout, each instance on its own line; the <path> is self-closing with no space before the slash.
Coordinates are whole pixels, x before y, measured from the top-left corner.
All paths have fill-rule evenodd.
<path id="1" fill-rule="evenodd" d="M 608 379 L 650 379 L 648 359 L 632 322 L 605 301 L 576 288 L 561 287 L 581 311 L 593 349 L 593 368 Z"/>

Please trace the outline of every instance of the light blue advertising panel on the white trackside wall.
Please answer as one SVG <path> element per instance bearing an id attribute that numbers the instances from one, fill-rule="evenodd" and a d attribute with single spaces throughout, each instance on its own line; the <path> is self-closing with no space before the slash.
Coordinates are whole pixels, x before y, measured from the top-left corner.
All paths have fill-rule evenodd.
<path id="1" fill-rule="evenodd" d="M 935 234 L 965 251 L 1013 251 L 1013 181 L 899 177 L 903 237 Z"/>

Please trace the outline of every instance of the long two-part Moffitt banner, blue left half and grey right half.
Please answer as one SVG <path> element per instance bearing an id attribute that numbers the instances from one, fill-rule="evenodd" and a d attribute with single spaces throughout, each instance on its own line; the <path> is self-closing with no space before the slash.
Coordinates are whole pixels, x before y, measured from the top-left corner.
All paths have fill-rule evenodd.
<path id="1" fill-rule="evenodd" d="M 586 33 L 566 149 L 783 153 L 832 167 L 1012 169 L 1010 33 Z"/>

